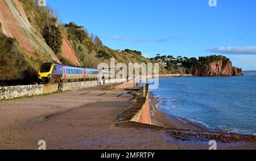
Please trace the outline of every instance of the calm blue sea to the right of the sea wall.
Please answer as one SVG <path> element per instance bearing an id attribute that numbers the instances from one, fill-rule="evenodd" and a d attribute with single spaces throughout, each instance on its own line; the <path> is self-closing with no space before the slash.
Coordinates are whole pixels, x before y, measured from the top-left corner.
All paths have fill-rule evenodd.
<path id="1" fill-rule="evenodd" d="M 160 79 L 160 111 L 209 130 L 256 135 L 256 74 Z"/>

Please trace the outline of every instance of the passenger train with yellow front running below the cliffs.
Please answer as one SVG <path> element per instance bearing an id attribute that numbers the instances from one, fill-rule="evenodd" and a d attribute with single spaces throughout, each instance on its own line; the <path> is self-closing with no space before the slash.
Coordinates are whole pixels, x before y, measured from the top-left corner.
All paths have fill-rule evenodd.
<path id="1" fill-rule="evenodd" d="M 92 69 L 81 66 L 61 65 L 47 62 L 40 66 L 38 71 L 38 83 L 68 83 L 96 81 L 100 77 L 110 79 L 113 77 L 112 71 Z"/>

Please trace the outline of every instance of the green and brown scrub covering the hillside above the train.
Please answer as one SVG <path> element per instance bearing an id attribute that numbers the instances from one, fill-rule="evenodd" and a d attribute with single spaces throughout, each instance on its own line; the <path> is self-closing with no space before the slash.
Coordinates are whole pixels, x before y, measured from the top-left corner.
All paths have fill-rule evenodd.
<path id="1" fill-rule="evenodd" d="M 71 60 L 64 58 L 61 54 L 63 35 L 68 37 L 76 56 L 82 66 L 96 68 L 99 63 L 110 64 L 110 58 L 115 58 L 116 63 L 155 63 L 142 56 L 141 52 L 126 49 L 122 52 L 105 46 L 100 38 L 89 33 L 84 27 L 75 23 L 58 24 L 57 16 L 48 7 L 38 7 L 37 1 L 18 0 L 26 12 L 28 21 L 37 35 L 52 49 L 57 58 L 64 64 L 73 65 Z M 0 33 L 2 24 L 0 23 Z M 32 38 L 34 39 L 34 38 Z M 37 41 L 37 39 L 32 40 Z M 39 66 L 52 58 L 46 53 L 35 49 L 28 52 L 22 49 L 17 40 L 9 38 L 1 33 L 0 39 L 0 75 L 1 80 L 29 79 L 30 83 L 35 81 Z M 160 73 L 167 73 L 160 66 Z"/>

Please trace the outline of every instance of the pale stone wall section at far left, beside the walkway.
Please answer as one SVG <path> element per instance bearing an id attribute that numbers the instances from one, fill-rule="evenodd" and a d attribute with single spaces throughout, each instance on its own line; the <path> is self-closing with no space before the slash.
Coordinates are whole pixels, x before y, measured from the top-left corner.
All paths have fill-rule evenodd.
<path id="1" fill-rule="evenodd" d="M 0 100 L 43 94 L 43 85 L 0 87 Z"/>

